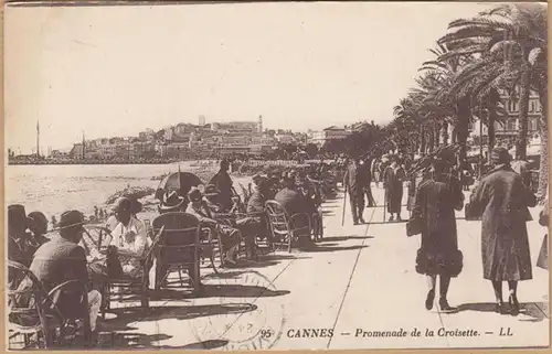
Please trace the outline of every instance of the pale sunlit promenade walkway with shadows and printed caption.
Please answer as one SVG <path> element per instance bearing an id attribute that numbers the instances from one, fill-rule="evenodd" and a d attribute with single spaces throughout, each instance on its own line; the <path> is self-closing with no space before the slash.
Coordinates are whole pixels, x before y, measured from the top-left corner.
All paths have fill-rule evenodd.
<path id="1" fill-rule="evenodd" d="M 374 189 L 374 197 L 381 204 L 383 191 Z M 465 266 L 449 289 L 449 303 L 457 310 L 445 314 L 437 307 L 432 311 L 424 308 L 426 281 L 414 270 L 420 236 L 406 237 L 404 223 L 383 223 L 383 208 L 379 207 L 365 210 L 368 225 L 354 226 L 347 205 L 341 226 L 341 195 L 325 203 L 323 212 L 325 239 L 316 247 L 291 254 L 278 251 L 222 275 L 205 273 L 206 296 L 201 299 L 182 299 L 177 292 L 152 301 L 147 313 L 120 309 L 100 324 L 103 347 L 548 345 L 548 271 L 535 267 L 533 279 L 519 285 L 520 315 L 492 312 L 492 288 L 481 277 L 479 222 L 458 219 Z M 532 213 L 537 219 L 538 208 Z M 404 211 L 403 218 L 407 215 Z M 534 265 L 545 229 L 531 222 L 529 233 Z M 445 330 L 439 332 L 442 328 Z M 415 330 L 420 335 L 413 335 Z M 355 336 L 358 331 L 364 336 Z M 393 336 L 374 336 L 382 331 Z M 460 336 L 443 336 L 443 331 L 456 331 Z M 305 337 L 307 334 L 316 337 Z"/>

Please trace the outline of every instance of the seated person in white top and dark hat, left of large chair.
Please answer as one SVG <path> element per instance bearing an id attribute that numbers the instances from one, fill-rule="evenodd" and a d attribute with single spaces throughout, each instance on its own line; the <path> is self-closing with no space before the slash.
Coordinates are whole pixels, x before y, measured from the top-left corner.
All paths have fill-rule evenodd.
<path id="1" fill-rule="evenodd" d="M 144 269 L 140 259 L 148 246 L 146 227 L 131 215 L 132 202 L 127 197 L 119 197 L 115 202 L 114 212 L 117 224 L 112 229 L 109 249 L 116 250 L 125 276 L 141 277 Z"/>

